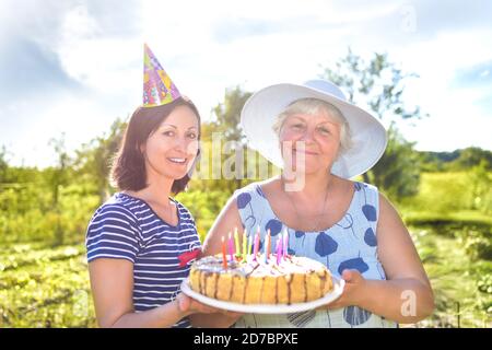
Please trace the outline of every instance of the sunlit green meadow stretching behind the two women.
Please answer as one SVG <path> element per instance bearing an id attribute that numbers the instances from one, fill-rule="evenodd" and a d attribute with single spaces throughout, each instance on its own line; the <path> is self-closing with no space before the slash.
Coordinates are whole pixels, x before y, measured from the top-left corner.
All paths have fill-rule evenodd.
<path id="1" fill-rule="evenodd" d="M 472 180 L 467 172 L 422 173 L 418 195 L 397 205 L 436 299 L 432 317 L 411 327 L 492 326 L 491 198 L 477 199 Z M 201 238 L 227 198 L 194 186 L 178 196 Z M 56 209 L 39 205 L 49 202 L 39 184 L 1 188 L 0 327 L 97 326 L 84 235 L 99 197 L 77 184 L 60 186 Z"/>

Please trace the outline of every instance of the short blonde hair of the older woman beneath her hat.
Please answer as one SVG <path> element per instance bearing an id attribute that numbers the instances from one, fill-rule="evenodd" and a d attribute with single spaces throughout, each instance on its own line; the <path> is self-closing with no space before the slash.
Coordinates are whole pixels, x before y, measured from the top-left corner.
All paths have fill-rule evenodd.
<path id="1" fill-rule="evenodd" d="M 314 115 L 321 110 L 325 112 L 331 120 L 340 125 L 340 149 L 337 155 L 339 156 L 343 152 L 350 150 L 350 148 L 352 147 L 352 137 L 345 117 L 343 117 L 340 109 L 328 102 L 318 98 L 296 100 L 277 116 L 272 129 L 273 131 L 276 131 L 277 136 L 280 137 L 280 130 L 282 129 L 283 122 L 289 116 L 292 116 L 294 114 Z"/>

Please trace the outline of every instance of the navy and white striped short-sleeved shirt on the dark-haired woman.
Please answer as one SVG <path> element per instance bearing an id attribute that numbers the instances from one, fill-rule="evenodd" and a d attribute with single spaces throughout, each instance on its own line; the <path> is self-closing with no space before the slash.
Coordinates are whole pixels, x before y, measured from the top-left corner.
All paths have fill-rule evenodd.
<path id="1" fill-rule="evenodd" d="M 192 261 L 180 267 L 180 255 L 201 247 L 190 212 L 171 200 L 177 207 L 176 226 L 164 222 L 144 200 L 122 192 L 102 205 L 89 223 L 87 261 L 115 258 L 133 262 L 137 313 L 174 300 Z M 190 327 L 190 323 L 183 318 L 174 327 Z"/>

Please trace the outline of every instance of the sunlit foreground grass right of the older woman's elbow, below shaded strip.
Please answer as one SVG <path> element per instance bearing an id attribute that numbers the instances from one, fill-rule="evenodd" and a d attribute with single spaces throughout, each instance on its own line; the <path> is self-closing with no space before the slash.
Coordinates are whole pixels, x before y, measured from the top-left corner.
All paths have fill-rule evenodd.
<path id="1" fill-rule="evenodd" d="M 459 315 L 460 327 L 491 327 L 492 310 L 488 305 L 492 294 L 478 288 L 483 276 L 492 275 L 491 261 L 471 259 L 459 238 L 415 228 L 411 232 L 436 303 L 434 315 L 418 326 L 457 327 Z"/>

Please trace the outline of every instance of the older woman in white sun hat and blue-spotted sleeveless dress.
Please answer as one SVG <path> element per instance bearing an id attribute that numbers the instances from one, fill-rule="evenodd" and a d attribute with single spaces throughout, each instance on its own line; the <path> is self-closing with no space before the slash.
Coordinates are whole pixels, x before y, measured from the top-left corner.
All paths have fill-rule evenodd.
<path id="1" fill-rule="evenodd" d="M 349 179 L 383 154 L 379 121 L 332 83 L 314 80 L 259 91 L 246 102 L 242 126 L 250 147 L 283 171 L 235 192 L 209 232 L 204 254 L 219 253 L 222 235 L 234 228 L 247 234 L 259 228 L 261 241 L 268 230 L 272 236 L 288 230 L 289 253 L 325 264 L 345 288 L 319 310 L 247 314 L 235 325 L 396 327 L 429 316 L 432 289 L 400 217 L 377 188 Z"/>

